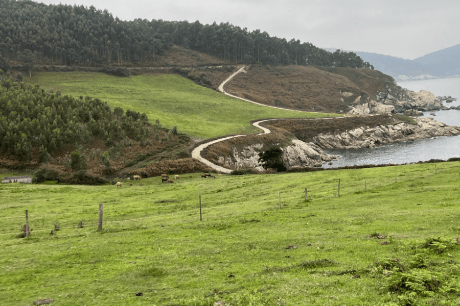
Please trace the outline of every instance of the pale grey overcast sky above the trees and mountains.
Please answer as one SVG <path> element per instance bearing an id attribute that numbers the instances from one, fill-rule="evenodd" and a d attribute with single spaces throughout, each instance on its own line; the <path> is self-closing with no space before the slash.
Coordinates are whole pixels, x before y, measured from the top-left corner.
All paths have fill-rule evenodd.
<path id="1" fill-rule="evenodd" d="M 460 43 L 460 0 L 35 0 L 121 20 L 229 22 L 317 47 L 415 59 Z"/>

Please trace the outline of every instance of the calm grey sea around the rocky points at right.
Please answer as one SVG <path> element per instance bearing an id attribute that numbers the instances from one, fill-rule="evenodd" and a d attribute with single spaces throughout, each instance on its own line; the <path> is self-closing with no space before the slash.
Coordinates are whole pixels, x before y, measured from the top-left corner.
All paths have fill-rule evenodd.
<path id="1" fill-rule="evenodd" d="M 445 106 L 460 105 L 460 78 L 436 79 L 424 81 L 399 82 L 399 86 L 413 91 L 426 90 L 435 96 L 452 96 L 457 101 L 443 103 Z M 434 113 L 434 115 L 431 115 Z M 460 126 L 460 111 L 436 111 L 426 112 L 425 117 L 433 117 L 434 120 L 449 125 Z M 424 140 L 402 142 L 385 145 L 375 149 L 350 149 L 350 150 L 325 150 L 328 154 L 340 156 L 332 166 L 343 167 L 366 164 L 405 164 L 430 159 L 447 160 L 452 157 L 460 157 L 460 136 L 436 137 Z"/>

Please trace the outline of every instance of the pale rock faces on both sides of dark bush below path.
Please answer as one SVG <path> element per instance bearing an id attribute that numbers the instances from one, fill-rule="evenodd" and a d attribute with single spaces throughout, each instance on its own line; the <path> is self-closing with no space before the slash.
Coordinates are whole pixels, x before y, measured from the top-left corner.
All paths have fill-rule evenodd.
<path id="1" fill-rule="evenodd" d="M 259 163 L 259 152 L 263 148 L 262 144 L 255 144 L 238 149 L 232 148 L 232 156 L 219 157 L 218 163 L 226 168 L 241 169 L 244 167 L 255 168 L 264 171 Z M 337 160 L 337 157 L 328 155 L 314 143 L 306 143 L 298 139 L 292 140 L 292 145 L 282 148 L 283 163 L 286 168 L 296 167 L 321 167 L 324 163 Z"/>

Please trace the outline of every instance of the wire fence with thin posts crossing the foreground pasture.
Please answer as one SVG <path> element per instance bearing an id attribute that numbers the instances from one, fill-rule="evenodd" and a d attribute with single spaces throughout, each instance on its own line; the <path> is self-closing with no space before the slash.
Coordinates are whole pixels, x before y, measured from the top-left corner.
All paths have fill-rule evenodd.
<path id="1" fill-rule="evenodd" d="M 162 222 L 193 222 L 219 220 L 224 215 L 241 215 L 258 213 L 263 210 L 282 209 L 290 204 L 320 201 L 334 197 L 349 196 L 351 194 L 372 191 L 391 184 L 405 183 L 418 179 L 429 179 L 431 175 L 443 170 L 435 167 L 432 173 L 424 172 L 421 176 L 419 171 L 406 170 L 398 175 L 398 172 L 388 173 L 385 177 L 348 177 L 348 179 L 329 179 L 315 181 L 310 186 L 300 187 L 291 184 L 286 188 L 273 190 L 269 194 L 257 194 L 253 196 L 238 196 L 225 198 L 221 193 L 199 196 L 196 202 L 179 202 L 168 205 L 152 203 L 143 207 L 115 208 L 106 206 L 102 210 L 95 205 L 94 209 L 80 212 L 60 212 L 50 214 L 25 214 L 24 210 L 18 210 L 16 216 L 0 217 L 0 237 L 22 237 L 27 235 L 59 235 L 66 230 L 78 228 L 91 228 L 108 230 L 114 227 L 139 227 L 144 221 L 156 221 L 155 225 Z M 390 175 L 391 174 L 391 175 Z M 458 180 L 458 177 L 457 177 Z M 219 198 L 221 196 L 222 198 Z M 21 206 L 25 207 L 25 206 Z M 0 206 L 1 209 L 1 206 Z M 26 216 L 27 215 L 27 216 Z M 102 217 L 101 217 L 102 216 Z M 27 220 L 27 222 L 26 222 Z M 23 225 L 26 222 L 25 225 Z M 62 222 L 62 223 L 61 223 Z M 51 225 L 53 224 L 53 225 Z M 18 227 L 17 225 L 20 225 Z M 155 226 L 150 223 L 149 226 Z M 29 231 L 28 231 L 29 228 Z M 3 233 L 2 233 L 3 232 Z"/>

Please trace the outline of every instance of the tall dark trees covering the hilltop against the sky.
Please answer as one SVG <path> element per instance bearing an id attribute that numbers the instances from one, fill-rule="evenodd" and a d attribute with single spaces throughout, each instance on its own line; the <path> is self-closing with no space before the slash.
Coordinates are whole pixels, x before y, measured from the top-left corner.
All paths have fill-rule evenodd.
<path id="1" fill-rule="evenodd" d="M 94 6 L 44 5 L 0 0 L 0 55 L 65 65 L 97 65 L 155 60 L 172 45 L 234 62 L 374 67 L 352 52 L 334 53 L 309 42 L 271 37 L 267 32 L 198 20 L 151 21 L 113 18 Z M 30 50 L 30 53 L 29 51 Z"/>

